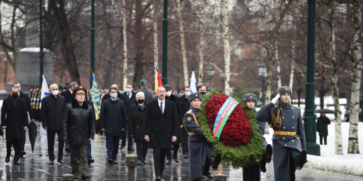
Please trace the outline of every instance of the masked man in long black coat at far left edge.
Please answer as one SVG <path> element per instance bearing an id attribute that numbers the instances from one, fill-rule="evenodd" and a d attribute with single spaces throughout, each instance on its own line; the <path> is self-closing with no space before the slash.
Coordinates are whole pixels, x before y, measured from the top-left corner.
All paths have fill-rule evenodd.
<path id="1" fill-rule="evenodd" d="M 2 129 L 6 129 L 7 156 L 5 162 L 10 161 L 11 147 L 14 146 L 14 164 L 19 162 L 24 132 L 28 129 L 28 115 L 26 102 L 19 98 L 19 88 L 11 88 L 11 97 L 3 102 L 1 110 Z"/>

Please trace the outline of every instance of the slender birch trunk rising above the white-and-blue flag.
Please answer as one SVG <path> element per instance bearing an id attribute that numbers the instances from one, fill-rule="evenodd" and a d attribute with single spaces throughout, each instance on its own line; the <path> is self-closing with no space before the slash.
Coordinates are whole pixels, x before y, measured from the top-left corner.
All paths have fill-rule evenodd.
<path id="1" fill-rule="evenodd" d="M 198 71 L 198 82 L 203 82 L 203 70 L 204 70 L 204 27 L 205 27 L 205 1 L 201 1 L 201 10 L 200 10 L 200 38 L 199 38 L 199 71 Z"/>

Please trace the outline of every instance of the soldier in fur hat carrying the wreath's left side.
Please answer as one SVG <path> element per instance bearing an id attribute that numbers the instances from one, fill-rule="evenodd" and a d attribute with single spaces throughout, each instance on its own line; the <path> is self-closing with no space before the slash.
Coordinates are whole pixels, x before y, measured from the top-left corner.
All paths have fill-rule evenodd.
<path id="1" fill-rule="evenodd" d="M 184 128 L 189 133 L 189 181 L 202 180 L 207 146 L 207 140 L 198 123 L 202 94 L 193 93 L 188 97 L 188 101 L 191 109 L 184 115 Z"/>

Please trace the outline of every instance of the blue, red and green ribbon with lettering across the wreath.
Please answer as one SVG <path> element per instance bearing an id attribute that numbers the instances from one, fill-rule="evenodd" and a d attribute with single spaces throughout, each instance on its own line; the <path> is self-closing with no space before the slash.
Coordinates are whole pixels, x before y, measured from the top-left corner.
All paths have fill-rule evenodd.
<path id="1" fill-rule="evenodd" d="M 219 136 L 222 133 L 223 127 L 225 123 L 227 122 L 230 114 L 234 110 L 234 108 L 238 105 L 238 102 L 233 99 L 232 97 L 229 97 L 219 110 L 216 120 L 214 122 L 213 127 L 213 136 L 219 138 Z"/>

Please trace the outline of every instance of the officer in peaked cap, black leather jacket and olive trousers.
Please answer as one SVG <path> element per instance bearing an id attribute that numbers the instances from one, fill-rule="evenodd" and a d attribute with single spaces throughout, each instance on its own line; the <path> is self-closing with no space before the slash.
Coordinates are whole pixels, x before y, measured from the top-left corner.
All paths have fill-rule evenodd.
<path id="1" fill-rule="evenodd" d="M 71 151 L 72 174 L 78 178 L 81 172 L 82 179 L 90 178 L 88 174 L 87 145 L 94 135 L 93 110 L 85 102 L 87 89 L 77 86 L 73 95 L 75 100 L 67 104 L 63 117 L 63 138 L 68 139 Z M 80 162 L 78 163 L 78 153 Z"/>

